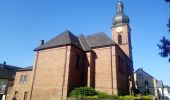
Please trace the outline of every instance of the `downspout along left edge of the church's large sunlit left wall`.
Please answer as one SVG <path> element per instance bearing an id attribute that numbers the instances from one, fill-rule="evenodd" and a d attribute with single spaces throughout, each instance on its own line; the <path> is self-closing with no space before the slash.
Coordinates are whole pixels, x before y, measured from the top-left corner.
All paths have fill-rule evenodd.
<path id="1" fill-rule="evenodd" d="M 39 51 L 37 51 L 37 55 L 36 55 L 36 61 L 35 61 L 35 67 L 34 67 L 34 73 L 33 73 L 33 81 L 32 81 L 32 87 L 31 87 L 30 100 L 32 100 L 32 92 L 33 92 L 33 87 L 34 87 L 34 83 L 35 83 L 35 75 L 36 75 L 36 70 L 37 70 L 38 55 L 39 55 Z"/>

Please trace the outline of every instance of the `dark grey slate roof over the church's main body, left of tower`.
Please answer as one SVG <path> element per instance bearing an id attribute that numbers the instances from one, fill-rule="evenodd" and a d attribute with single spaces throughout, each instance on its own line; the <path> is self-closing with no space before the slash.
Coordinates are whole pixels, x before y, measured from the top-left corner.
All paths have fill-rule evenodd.
<path id="1" fill-rule="evenodd" d="M 64 45 L 74 45 L 84 51 L 89 51 L 92 48 L 114 44 L 115 43 L 112 39 L 110 39 L 105 33 L 96 33 L 89 36 L 80 35 L 77 37 L 67 30 L 34 50 L 39 51 Z"/>

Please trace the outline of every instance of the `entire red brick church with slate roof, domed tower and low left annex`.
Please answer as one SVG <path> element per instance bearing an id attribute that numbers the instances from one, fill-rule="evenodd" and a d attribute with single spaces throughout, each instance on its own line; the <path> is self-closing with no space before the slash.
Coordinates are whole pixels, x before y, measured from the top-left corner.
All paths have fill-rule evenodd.
<path id="1" fill-rule="evenodd" d="M 8 93 L 21 100 L 66 100 L 75 87 L 93 87 L 111 95 L 128 95 L 133 82 L 133 58 L 129 17 L 122 1 L 106 33 L 76 36 L 69 30 L 34 49 L 32 68 L 16 72 Z"/>

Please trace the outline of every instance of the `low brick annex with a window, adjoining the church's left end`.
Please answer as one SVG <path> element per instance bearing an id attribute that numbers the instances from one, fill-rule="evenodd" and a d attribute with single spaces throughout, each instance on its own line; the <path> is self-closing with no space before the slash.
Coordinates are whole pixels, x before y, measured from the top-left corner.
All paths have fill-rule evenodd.
<path id="1" fill-rule="evenodd" d="M 32 78 L 32 66 L 17 70 L 14 86 L 8 92 L 7 100 L 11 100 L 12 98 L 16 98 L 16 100 L 30 100 Z"/>

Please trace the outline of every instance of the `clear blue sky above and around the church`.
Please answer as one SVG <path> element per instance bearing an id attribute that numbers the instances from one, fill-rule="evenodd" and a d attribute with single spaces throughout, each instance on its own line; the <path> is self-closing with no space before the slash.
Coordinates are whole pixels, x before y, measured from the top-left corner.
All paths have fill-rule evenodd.
<path id="1" fill-rule="evenodd" d="M 39 40 L 70 30 L 76 35 L 105 32 L 111 37 L 118 0 L 0 0 L 0 62 L 21 67 L 34 62 Z M 143 68 L 170 85 L 170 63 L 156 44 L 169 37 L 164 0 L 123 0 L 132 29 L 134 69 Z"/>

